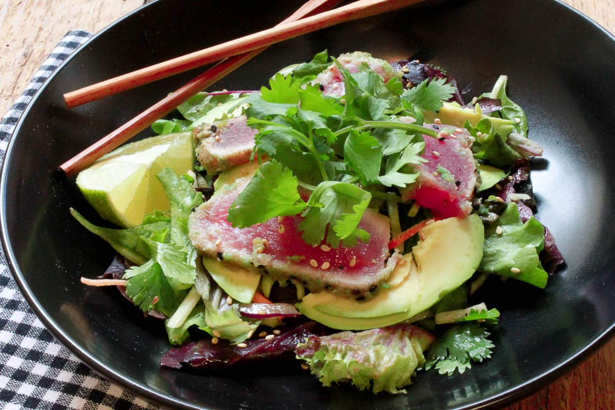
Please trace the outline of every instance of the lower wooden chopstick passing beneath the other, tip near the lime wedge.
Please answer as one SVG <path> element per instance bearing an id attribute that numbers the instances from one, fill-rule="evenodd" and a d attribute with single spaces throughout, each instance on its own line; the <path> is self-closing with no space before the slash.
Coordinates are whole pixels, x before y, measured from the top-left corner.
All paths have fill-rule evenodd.
<path id="1" fill-rule="evenodd" d="M 294 22 L 300 18 L 314 14 L 315 12 L 332 9 L 342 1 L 343 0 L 309 0 L 303 4 L 300 9 L 296 10 L 295 13 L 280 22 L 280 25 Z M 205 71 L 205 73 L 200 74 L 200 76 L 195 77 L 187 84 L 183 85 L 180 89 L 175 90 L 175 92 L 170 93 L 161 101 L 158 101 L 136 117 L 133 117 L 129 122 L 109 133 L 101 140 L 98 140 L 84 151 L 79 152 L 79 154 L 60 165 L 60 168 L 62 168 L 68 176 L 83 170 L 101 156 L 111 152 L 114 148 L 117 148 L 130 140 L 133 136 L 145 130 L 145 128 L 149 127 L 149 125 L 153 124 L 157 119 L 169 114 L 169 112 L 173 111 L 173 109 L 177 108 L 181 103 L 187 101 L 192 95 L 200 90 L 204 90 L 226 76 L 226 74 L 244 65 L 247 61 L 252 60 L 252 58 L 263 52 L 266 48 L 267 47 L 252 50 L 221 61 Z"/>

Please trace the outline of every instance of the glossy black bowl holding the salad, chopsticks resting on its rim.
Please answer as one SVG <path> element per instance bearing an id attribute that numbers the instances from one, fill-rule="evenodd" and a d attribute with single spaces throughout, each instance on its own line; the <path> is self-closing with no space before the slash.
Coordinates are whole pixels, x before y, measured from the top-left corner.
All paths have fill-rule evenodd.
<path id="1" fill-rule="evenodd" d="M 545 148 L 534 164 L 538 218 L 568 267 L 544 291 L 510 286 L 492 360 L 462 376 L 419 374 L 408 395 L 323 388 L 298 365 L 195 374 L 161 369 L 161 323 L 116 291 L 79 283 L 113 251 L 69 216 L 95 213 L 58 165 L 176 89 L 197 71 L 76 109 L 62 93 L 268 28 L 301 1 L 159 1 L 102 31 L 36 94 L 10 141 L 1 183 L 2 242 L 26 299 L 69 349 L 103 376 L 173 408 L 470 408 L 502 404 L 555 379 L 615 329 L 615 41 L 555 1 L 429 1 L 274 45 L 216 85 L 254 89 L 277 68 L 325 48 L 412 57 L 449 69 L 467 95 L 509 76 L 530 136 Z M 142 136 L 148 132 L 142 133 Z M 510 281 L 509 281 L 510 283 Z"/>

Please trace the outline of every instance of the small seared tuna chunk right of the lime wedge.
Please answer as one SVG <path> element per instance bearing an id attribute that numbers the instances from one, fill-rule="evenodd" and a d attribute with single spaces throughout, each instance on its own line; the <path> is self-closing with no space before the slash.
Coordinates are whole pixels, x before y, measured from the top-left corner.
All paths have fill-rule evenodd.
<path id="1" fill-rule="evenodd" d="M 194 130 L 196 154 L 208 173 L 218 173 L 250 160 L 256 130 L 248 127 L 246 121 L 245 116 L 239 116 Z"/>

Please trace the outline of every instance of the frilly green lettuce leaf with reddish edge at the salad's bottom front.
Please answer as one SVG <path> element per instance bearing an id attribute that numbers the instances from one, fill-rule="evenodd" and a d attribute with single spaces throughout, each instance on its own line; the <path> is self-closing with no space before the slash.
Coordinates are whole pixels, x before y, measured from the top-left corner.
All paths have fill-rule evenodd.
<path id="1" fill-rule="evenodd" d="M 325 386 L 351 382 L 359 390 L 405 393 L 411 377 L 423 366 L 423 351 L 434 341 L 427 331 L 402 323 L 352 333 L 312 336 L 297 346 L 297 358 L 306 361 Z"/>

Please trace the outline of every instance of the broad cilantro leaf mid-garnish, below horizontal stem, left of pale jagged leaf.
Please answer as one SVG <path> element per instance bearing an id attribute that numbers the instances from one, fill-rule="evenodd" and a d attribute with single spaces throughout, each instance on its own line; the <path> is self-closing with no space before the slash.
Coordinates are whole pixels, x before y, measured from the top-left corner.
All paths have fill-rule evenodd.
<path id="1" fill-rule="evenodd" d="M 344 160 L 354 170 L 363 185 L 378 178 L 383 151 L 370 132 L 352 130 L 344 143 Z"/>

